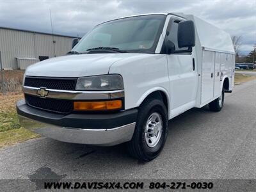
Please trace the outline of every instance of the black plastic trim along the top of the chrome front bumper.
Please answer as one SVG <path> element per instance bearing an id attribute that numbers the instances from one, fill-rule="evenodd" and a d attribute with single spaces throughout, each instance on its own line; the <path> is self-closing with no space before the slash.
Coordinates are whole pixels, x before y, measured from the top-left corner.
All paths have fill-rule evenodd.
<path id="1" fill-rule="evenodd" d="M 112 129 L 136 122 L 138 109 L 105 114 L 58 114 L 28 106 L 25 100 L 16 104 L 17 113 L 39 122 L 81 129 Z"/>

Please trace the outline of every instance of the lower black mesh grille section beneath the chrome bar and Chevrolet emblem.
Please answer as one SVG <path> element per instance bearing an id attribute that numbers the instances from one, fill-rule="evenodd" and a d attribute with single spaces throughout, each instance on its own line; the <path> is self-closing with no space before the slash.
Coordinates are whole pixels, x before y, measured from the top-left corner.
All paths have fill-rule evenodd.
<path id="1" fill-rule="evenodd" d="M 25 94 L 26 103 L 35 108 L 45 109 L 58 113 L 70 113 L 73 109 L 72 100 L 60 100 L 50 98 L 40 98 L 33 95 Z"/>

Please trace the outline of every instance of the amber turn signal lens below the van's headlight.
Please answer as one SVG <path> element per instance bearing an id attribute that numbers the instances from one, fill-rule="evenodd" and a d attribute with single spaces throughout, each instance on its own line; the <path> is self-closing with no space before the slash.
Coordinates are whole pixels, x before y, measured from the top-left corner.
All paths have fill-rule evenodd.
<path id="1" fill-rule="evenodd" d="M 106 100 L 106 101 L 76 101 L 74 102 L 74 110 L 76 111 L 97 111 L 97 110 L 113 110 L 121 109 L 122 100 Z"/>

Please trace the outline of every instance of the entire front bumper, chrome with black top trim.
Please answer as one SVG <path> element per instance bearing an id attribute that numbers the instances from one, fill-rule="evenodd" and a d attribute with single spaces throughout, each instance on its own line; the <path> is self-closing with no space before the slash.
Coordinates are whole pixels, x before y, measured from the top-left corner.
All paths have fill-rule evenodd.
<path id="1" fill-rule="evenodd" d="M 111 146 L 131 140 L 138 109 L 111 114 L 51 113 L 17 102 L 20 125 L 33 132 L 68 143 Z"/>

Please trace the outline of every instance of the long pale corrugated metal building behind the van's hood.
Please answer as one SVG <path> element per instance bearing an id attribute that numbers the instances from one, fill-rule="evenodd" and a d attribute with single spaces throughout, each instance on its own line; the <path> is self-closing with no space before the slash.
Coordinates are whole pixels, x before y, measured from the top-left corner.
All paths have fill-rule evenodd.
<path id="1" fill-rule="evenodd" d="M 65 55 L 73 38 L 0 27 L 0 62 L 4 69 L 25 69 L 38 61 Z"/>

